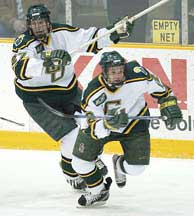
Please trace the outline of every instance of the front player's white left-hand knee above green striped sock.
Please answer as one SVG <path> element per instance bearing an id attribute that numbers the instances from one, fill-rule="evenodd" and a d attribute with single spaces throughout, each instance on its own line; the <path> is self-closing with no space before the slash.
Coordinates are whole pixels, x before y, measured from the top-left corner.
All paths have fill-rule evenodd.
<path id="1" fill-rule="evenodd" d="M 74 155 L 71 163 L 73 169 L 79 174 L 89 173 L 95 169 L 95 161 L 85 161 Z"/>

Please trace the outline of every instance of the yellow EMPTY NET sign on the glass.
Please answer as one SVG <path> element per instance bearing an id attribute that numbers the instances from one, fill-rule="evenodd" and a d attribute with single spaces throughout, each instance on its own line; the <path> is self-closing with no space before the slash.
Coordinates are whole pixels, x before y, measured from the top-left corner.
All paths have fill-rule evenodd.
<path id="1" fill-rule="evenodd" d="M 179 20 L 153 20 L 153 43 L 179 44 Z"/>

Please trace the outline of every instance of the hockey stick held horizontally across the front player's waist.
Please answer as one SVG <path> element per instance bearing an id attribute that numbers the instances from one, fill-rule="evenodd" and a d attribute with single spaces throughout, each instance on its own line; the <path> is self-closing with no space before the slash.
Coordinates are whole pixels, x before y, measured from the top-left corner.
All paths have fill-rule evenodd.
<path id="1" fill-rule="evenodd" d="M 54 108 L 52 108 L 51 106 L 49 106 L 47 103 L 45 103 L 41 98 L 38 98 L 38 101 L 50 112 L 52 112 L 53 114 L 62 117 L 62 118 L 78 118 L 78 119 L 83 119 L 83 118 L 87 118 L 86 115 L 71 115 L 71 114 L 65 114 L 62 113 Z M 94 116 L 95 119 L 109 119 L 112 118 L 113 116 L 110 115 L 104 115 L 104 116 Z M 132 119 L 132 120 L 155 120 L 155 119 L 161 119 L 161 120 L 166 120 L 166 116 L 128 116 L 128 119 Z"/>

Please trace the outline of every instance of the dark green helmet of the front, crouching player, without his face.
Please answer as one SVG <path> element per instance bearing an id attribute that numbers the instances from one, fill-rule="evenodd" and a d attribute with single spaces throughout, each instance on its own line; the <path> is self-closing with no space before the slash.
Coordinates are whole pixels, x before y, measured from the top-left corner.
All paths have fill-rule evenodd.
<path id="1" fill-rule="evenodd" d="M 102 67 L 102 76 L 109 86 L 118 88 L 123 84 L 124 80 L 118 84 L 109 83 L 109 77 L 108 77 L 108 69 L 110 67 L 125 65 L 125 59 L 118 52 L 116 51 L 104 52 L 101 56 L 101 60 L 99 64 Z"/>

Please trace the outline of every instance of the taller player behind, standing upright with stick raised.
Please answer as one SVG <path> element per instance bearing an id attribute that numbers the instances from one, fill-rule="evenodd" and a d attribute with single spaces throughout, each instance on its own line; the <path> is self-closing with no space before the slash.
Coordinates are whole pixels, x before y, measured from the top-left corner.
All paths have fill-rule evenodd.
<path id="1" fill-rule="evenodd" d="M 82 29 L 52 23 L 50 11 L 42 4 L 29 7 L 26 17 L 27 31 L 18 36 L 13 44 L 12 68 L 16 75 L 16 94 L 32 119 L 54 140 L 61 140 L 61 167 L 67 181 L 79 189 L 85 187 L 84 182 L 71 166 L 78 123 L 75 119 L 55 115 L 40 101 L 66 114 L 80 112 L 81 91 L 69 52 L 104 34 L 107 29 Z M 129 35 L 132 24 L 126 22 L 125 27 L 81 51 L 97 53 L 103 47 L 118 42 L 121 33 Z"/>

